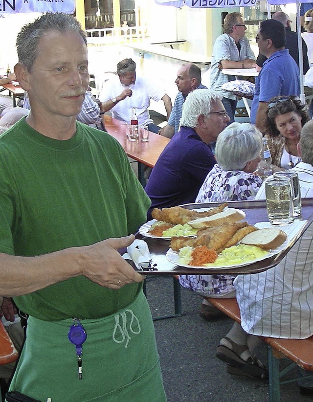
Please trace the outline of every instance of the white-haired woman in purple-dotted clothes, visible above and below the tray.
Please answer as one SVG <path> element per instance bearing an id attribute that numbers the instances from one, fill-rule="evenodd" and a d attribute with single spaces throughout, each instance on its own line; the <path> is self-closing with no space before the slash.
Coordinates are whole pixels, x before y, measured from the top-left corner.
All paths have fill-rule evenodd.
<path id="1" fill-rule="evenodd" d="M 208 173 L 196 202 L 252 200 L 262 185 L 254 175 L 262 150 L 262 134 L 249 123 L 232 123 L 216 141 L 217 164 Z M 236 297 L 236 275 L 181 275 L 179 283 L 205 297 Z M 212 320 L 222 313 L 206 300 L 200 315 Z"/>

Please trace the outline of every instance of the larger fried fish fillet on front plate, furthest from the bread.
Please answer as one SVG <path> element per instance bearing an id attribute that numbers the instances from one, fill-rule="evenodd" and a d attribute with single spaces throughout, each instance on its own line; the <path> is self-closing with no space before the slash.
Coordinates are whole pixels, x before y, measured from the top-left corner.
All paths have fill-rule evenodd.
<path id="1" fill-rule="evenodd" d="M 173 237 L 170 246 L 174 251 L 179 251 L 185 246 L 207 246 L 207 248 L 217 251 L 245 226 L 247 226 L 246 222 L 233 222 L 221 226 L 205 227 L 198 231 L 197 238 Z"/>

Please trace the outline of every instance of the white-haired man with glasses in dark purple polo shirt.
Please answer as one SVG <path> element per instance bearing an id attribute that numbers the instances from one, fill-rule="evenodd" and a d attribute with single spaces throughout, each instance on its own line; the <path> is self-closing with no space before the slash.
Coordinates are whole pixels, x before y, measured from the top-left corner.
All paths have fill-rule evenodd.
<path id="1" fill-rule="evenodd" d="M 210 143 L 227 127 L 222 95 L 195 89 L 187 96 L 180 130 L 166 145 L 152 169 L 145 191 L 153 208 L 195 202 L 200 187 L 216 163 Z"/>

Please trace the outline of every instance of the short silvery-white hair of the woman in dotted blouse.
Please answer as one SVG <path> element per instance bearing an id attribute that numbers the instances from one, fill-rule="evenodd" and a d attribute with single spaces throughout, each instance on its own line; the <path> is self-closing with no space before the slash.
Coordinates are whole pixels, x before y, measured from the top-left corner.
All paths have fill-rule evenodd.
<path id="1" fill-rule="evenodd" d="M 221 169 L 242 170 L 260 155 L 262 134 L 250 123 L 232 123 L 217 137 L 215 157 Z"/>

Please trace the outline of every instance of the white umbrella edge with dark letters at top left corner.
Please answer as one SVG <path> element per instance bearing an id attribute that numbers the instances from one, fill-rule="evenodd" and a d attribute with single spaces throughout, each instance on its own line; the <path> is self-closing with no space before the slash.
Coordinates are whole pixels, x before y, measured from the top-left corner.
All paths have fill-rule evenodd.
<path id="1" fill-rule="evenodd" d="M 13 0 L 0 3 L 0 14 L 15 13 L 56 13 L 62 12 L 73 14 L 75 11 L 75 0 L 63 1 L 39 1 L 39 0 Z"/>

